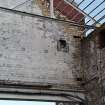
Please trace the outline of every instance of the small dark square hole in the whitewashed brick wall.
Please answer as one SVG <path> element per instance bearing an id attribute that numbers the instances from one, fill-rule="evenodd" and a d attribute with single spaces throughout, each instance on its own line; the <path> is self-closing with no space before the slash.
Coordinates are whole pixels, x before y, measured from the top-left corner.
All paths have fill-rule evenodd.
<path id="1" fill-rule="evenodd" d="M 63 52 L 69 52 L 69 45 L 64 39 L 60 39 L 57 42 L 57 50 Z"/>

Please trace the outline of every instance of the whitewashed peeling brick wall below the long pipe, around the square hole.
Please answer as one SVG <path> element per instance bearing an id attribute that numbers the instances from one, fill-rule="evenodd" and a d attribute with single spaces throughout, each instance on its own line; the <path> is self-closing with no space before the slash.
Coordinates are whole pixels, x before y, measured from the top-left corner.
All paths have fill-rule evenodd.
<path id="1" fill-rule="evenodd" d="M 73 36 L 80 34 L 69 23 L 1 12 L 0 80 L 76 85 L 81 42 Z M 57 49 L 61 38 L 67 52 Z"/>

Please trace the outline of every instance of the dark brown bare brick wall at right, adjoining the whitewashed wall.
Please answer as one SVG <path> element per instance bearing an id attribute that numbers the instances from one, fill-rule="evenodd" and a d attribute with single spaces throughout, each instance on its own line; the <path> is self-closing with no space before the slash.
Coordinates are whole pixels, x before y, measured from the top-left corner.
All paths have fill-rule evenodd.
<path id="1" fill-rule="evenodd" d="M 83 86 L 91 101 L 89 105 L 103 105 L 105 48 L 100 48 L 100 31 L 101 28 L 95 30 L 82 41 L 82 69 L 85 81 Z"/>

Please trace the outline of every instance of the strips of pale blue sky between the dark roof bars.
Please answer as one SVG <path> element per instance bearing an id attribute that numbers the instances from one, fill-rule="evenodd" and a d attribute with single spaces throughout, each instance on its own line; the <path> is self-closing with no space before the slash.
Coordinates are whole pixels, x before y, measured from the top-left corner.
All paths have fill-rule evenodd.
<path id="1" fill-rule="evenodd" d="M 79 4 L 81 1 L 83 0 L 74 0 L 77 4 Z M 100 11 L 103 11 L 97 15 L 94 19 L 97 21 L 98 19 L 100 19 L 100 17 L 105 15 L 105 0 L 84 0 L 81 5 L 79 5 L 79 8 L 81 10 L 83 10 L 89 3 L 91 3 L 92 1 L 94 1 L 91 5 L 89 5 L 84 12 L 86 12 L 87 14 L 89 14 L 94 8 L 96 8 L 100 3 L 102 3 L 98 8 L 96 8 L 93 12 L 91 12 L 91 14 L 89 14 L 91 17 L 94 17 L 97 13 L 99 13 Z M 89 18 L 86 18 L 86 21 L 88 21 Z M 104 23 L 105 22 L 105 18 L 100 21 L 100 23 Z M 88 25 L 91 25 L 92 21 L 90 21 L 88 23 Z"/>

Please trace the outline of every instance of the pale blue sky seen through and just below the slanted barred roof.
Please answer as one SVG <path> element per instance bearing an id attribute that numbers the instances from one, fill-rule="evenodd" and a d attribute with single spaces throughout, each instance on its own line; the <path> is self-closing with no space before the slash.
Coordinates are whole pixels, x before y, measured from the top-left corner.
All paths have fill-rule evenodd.
<path id="1" fill-rule="evenodd" d="M 76 2 L 77 5 L 82 2 L 78 7 L 81 10 L 83 10 L 86 14 L 90 15 L 96 21 L 98 21 L 101 17 L 104 16 L 104 18 L 101 21 L 99 21 L 99 23 L 105 23 L 105 0 L 74 0 L 74 2 Z M 85 23 L 86 25 L 94 25 L 94 21 L 89 17 L 85 18 Z M 86 36 L 93 30 L 94 29 L 90 29 L 88 31 L 85 30 Z"/>

